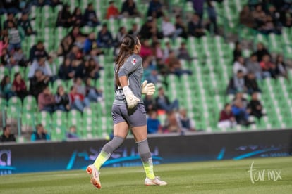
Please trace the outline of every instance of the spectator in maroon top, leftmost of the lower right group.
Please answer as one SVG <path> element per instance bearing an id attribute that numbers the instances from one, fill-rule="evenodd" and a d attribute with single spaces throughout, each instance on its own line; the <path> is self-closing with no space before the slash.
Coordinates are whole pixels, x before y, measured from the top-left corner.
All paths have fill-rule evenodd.
<path id="1" fill-rule="evenodd" d="M 231 111 L 231 104 L 226 103 L 224 109 L 220 112 L 218 128 L 236 127 L 236 119 Z"/>

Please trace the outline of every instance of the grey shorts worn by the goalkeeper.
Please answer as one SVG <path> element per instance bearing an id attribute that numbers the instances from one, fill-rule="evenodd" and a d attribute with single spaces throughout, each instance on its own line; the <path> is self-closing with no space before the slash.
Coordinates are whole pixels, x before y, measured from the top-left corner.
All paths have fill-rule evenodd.
<path id="1" fill-rule="evenodd" d="M 138 104 L 133 109 L 128 109 L 126 104 L 116 105 L 111 108 L 114 124 L 127 122 L 130 127 L 140 127 L 147 124 L 144 104 Z"/>

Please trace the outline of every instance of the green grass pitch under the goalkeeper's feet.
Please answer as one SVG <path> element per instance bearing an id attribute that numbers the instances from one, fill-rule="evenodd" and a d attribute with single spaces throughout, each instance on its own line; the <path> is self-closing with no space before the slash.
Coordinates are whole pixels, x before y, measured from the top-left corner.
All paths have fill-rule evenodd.
<path id="1" fill-rule="evenodd" d="M 251 164 L 253 179 L 261 174 L 262 181 L 251 182 Z M 142 167 L 122 167 L 101 169 L 100 190 L 77 170 L 0 176 L 0 193 L 292 193 L 292 157 L 161 164 L 154 170 L 167 186 L 144 186 Z"/>

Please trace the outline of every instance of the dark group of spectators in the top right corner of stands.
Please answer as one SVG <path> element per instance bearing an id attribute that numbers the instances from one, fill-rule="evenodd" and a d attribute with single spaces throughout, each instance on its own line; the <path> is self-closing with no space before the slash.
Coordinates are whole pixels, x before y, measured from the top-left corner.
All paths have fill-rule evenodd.
<path id="1" fill-rule="evenodd" d="M 262 34 L 281 34 L 282 27 L 292 26 L 291 5 L 284 0 L 250 0 L 239 15 L 240 22 Z"/>

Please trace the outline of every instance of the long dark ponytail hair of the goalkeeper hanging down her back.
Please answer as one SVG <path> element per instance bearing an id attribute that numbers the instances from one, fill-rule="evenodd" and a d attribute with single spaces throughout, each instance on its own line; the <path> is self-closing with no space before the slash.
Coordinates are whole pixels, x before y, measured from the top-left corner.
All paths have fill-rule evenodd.
<path id="1" fill-rule="evenodd" d="M 138 44 L 138 37 L 135 35 L 127 34 L 121 41 L 120 51 L 118 57 L 116 58 L 116 86 L 121 86 L 120 81 L 118 80 L 118 71 L 123 66 L 123 63 L 127 60 L 130 55 L 134 53 L 135 45 Z"/>

